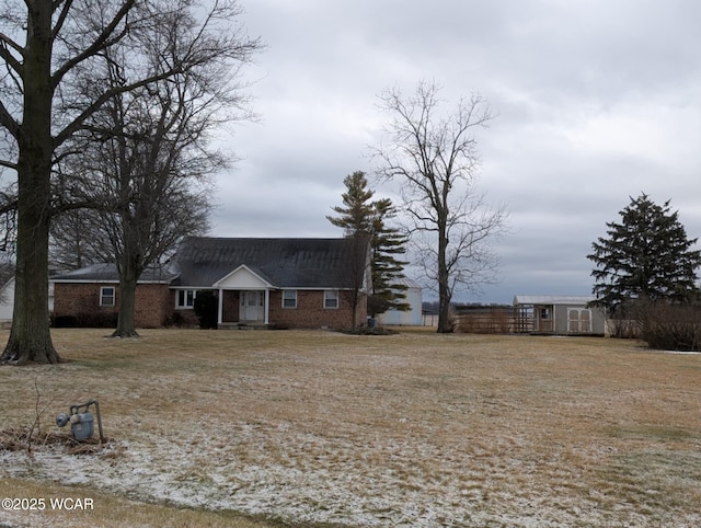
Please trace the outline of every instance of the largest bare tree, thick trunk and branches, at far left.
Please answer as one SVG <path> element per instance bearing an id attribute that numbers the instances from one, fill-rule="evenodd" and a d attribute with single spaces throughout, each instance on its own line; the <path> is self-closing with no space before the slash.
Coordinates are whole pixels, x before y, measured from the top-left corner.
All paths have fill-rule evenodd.
<path id="1" fill-rule="evenodd" d="M 241 37 L 233 1 L 216 1 L 206 10 L 194 0 L 24 0 L 8 1 L 0 12 L 0 165 L 16 173 L 16 274 L 13 324 L 3 363 L 60 360 L 48 325 L 48 233 L 56 211 L 53 167 L 77 154 L 76 135 L 90 117 L 119 93 L 172 78 L 228 48 L 218 38 L 239 41 L 242 51 L 260 46 Z M 179 33 L 177 21 L 204 13 L 196 27 Z M 154 70 L 145 59 L 166 51 Z M 108 82 L 105 61 L 123 60 L 122 78 Z M 222 80 L 226 82 L 226 80 Z"/>

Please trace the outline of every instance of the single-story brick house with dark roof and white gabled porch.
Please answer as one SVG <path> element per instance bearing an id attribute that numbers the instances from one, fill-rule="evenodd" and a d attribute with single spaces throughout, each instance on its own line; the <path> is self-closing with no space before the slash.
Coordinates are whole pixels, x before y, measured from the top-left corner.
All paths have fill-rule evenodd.
<path id="1" fill-rule="evenodd" d="M 136 323 L 195 323 L 195 299 L 217 299 L 219 328 L 347 328 L 357 291 L 356 323 L 367 318 L 370 252 L 357 239 L 189 238 L 166 268 L 145 272 L 137 284 Z M 54 317 L 116 313 L 114 265 L 100 264 L 54 277 Z"/>

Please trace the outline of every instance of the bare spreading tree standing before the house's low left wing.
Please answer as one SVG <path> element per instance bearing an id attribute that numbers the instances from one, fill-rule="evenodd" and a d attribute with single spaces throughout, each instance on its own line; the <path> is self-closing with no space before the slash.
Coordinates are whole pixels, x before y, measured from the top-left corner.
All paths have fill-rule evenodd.
<path id="1" fill-rule="evenodd" d="M 176 20 L 175 38 L 195 27 L 193 19 Z M 72 158 L 72 172 L 62 174 L 68 203 L 94 207 L 99 253 L 114 261 L 119 274 L 119 312 L 115 336 L 137 335 L 136 285 L 142 272 L 159 263 L 188 236 L 204 234 L 210 210 L 208 176 L 227 158 L 209 148 L 209 133 L 223 120 L 245 117 L 245 99 L 227 60 L 239 50 L 231 43 L 209 44 L 220 55 L 203 58 L 188 71 L 119 93 L 89 119 L 87 156 Z M 145 57 L 154 71 L 175 59 L 169 48 Z M 105 64 L 108 79 L 118 85 L 126 57 Z M 233 113 L 232 110 L 240 110 Z M 76 190 L 79 190 L 78 192 Z"/>

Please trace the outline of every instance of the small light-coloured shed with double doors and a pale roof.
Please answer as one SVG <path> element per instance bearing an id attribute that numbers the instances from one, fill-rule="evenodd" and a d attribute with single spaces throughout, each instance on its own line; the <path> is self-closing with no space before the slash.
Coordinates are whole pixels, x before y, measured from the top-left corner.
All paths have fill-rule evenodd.
<path id="1" fill-rule="evenodd" d="M 593 296 L 517 295 L 518 331 L 553 335 L 604 335 L 606 311 L 589 307 Z"/>

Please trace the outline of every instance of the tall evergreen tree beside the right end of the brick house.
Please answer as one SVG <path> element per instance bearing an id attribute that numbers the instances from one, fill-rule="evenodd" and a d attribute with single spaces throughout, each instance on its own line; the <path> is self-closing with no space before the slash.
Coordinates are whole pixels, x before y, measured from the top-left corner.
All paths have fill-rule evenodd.
<path id="1" fill-rule="evenodd" d="M 342 194 L 344 207 L 333 207 L 340 216 L 326 219 L 344 229 L 346 237 L 370 237 L 372 291 L 368 312 L 376 315 L 390 308 L 407 310 L 410 306 L 403 302 L 406 286 L 401 282 L 406 263 L 397 259 L 406 252 L 406 238 L 386 223 L 395 215 L 392 202 L 389 198 L 370 202 L 375 192 L 368 188 L 361 171 L 346 176 L 343 183 L 346 186 Z"/>

